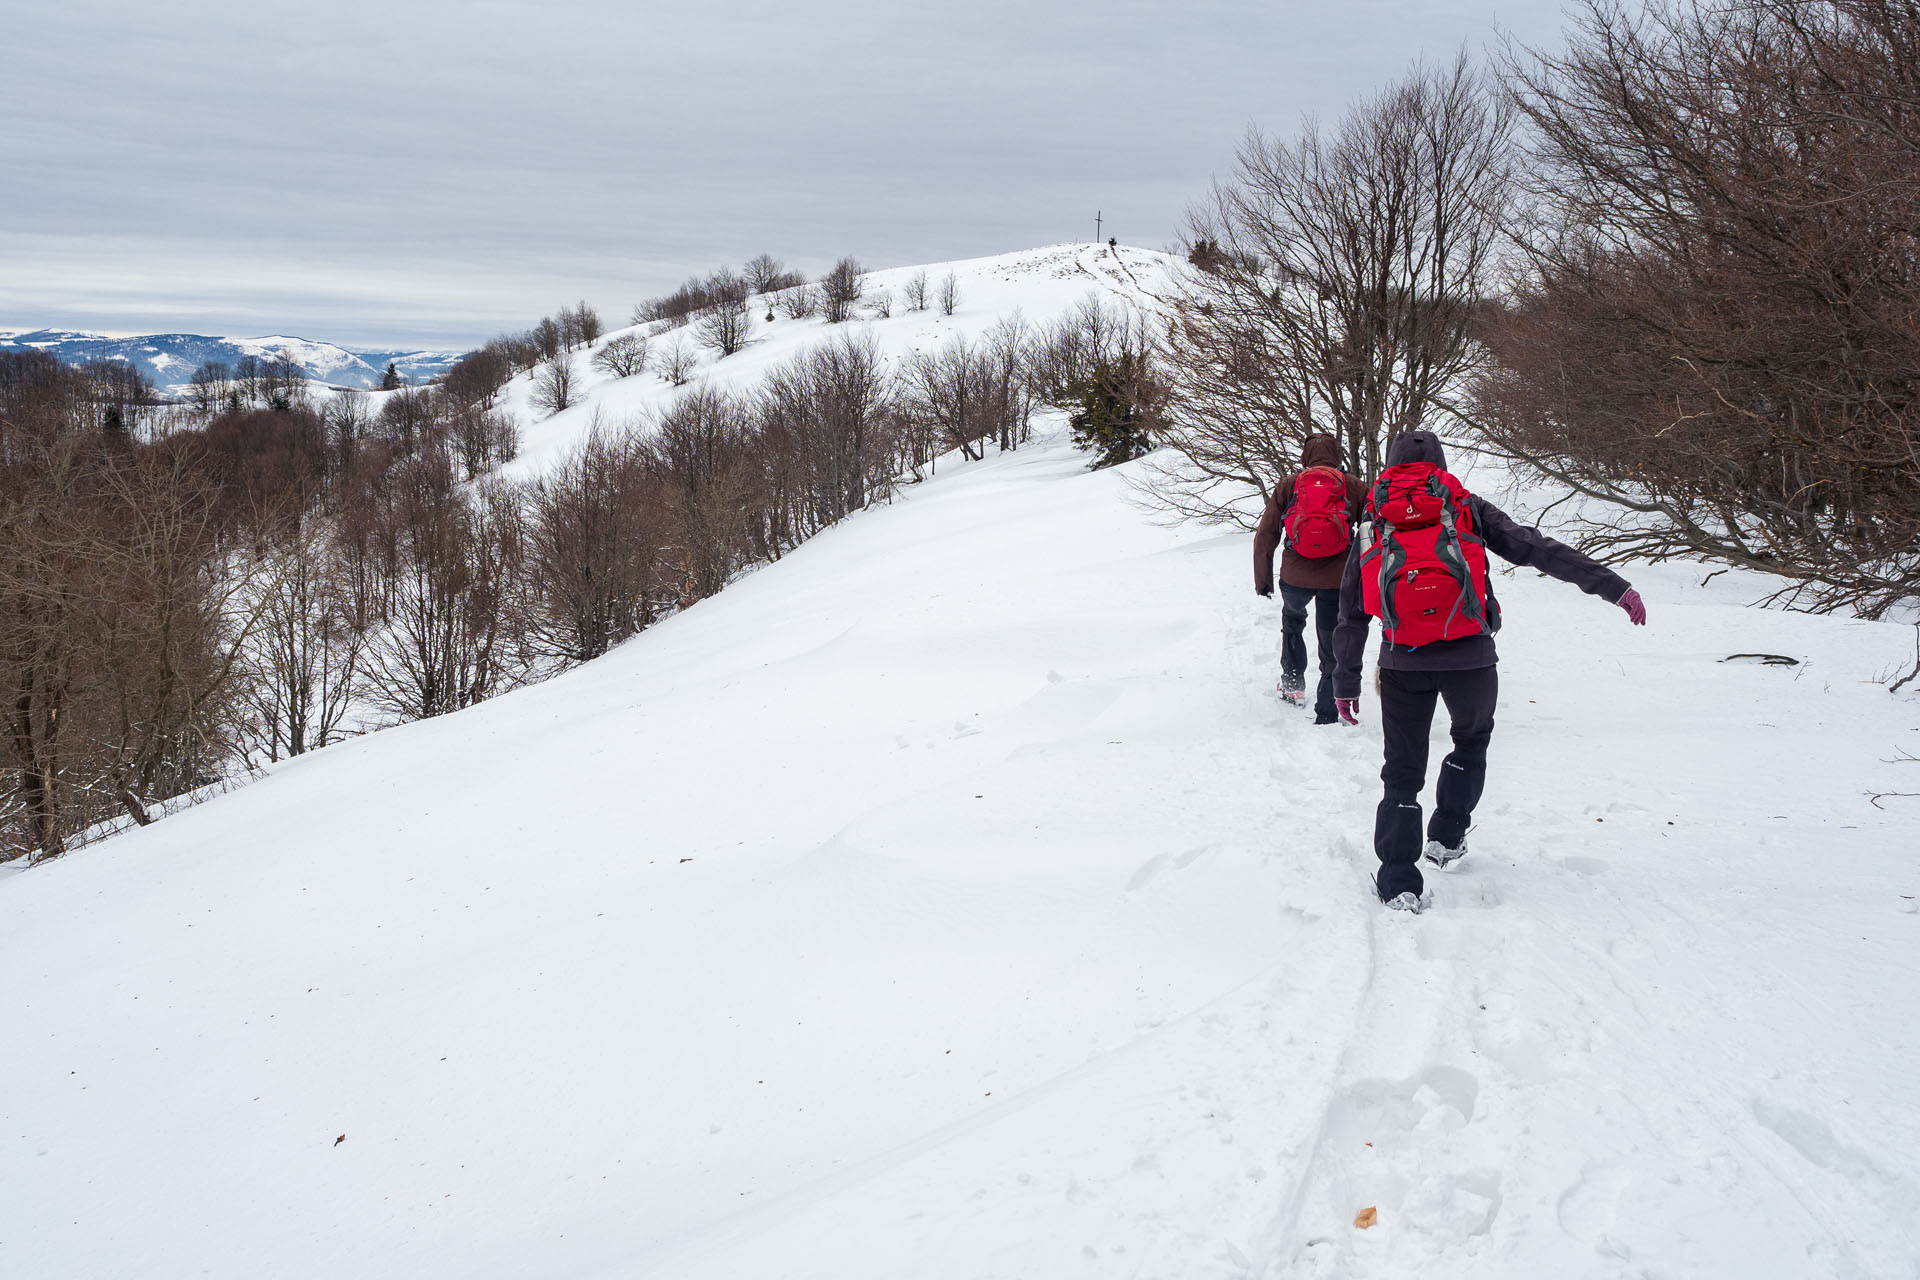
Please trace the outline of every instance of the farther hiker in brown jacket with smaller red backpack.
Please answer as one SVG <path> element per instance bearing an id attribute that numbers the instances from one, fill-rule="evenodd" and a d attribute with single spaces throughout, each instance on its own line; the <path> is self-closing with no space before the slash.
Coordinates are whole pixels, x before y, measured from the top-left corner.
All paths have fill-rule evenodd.
<path id="1" fill-rule="evenodd" d="M 1254 530 L 1254 591 L 1273 595 L 1273 551 L 1281 555 L 1281 697 L 1306 704 L 1308 606 L 1319 635 L 1319 691 L 1313 723 L 1334 723 L 1332 629 L 1340 616 L 1340 578 L 1346 574 L 1354 522 L 1359 520 L 1367 486 L 1340 470 L 1340 441 L 1308 436 L 1300 445 L 1300 470 L 1273 486 L 1267 510 Z"/>

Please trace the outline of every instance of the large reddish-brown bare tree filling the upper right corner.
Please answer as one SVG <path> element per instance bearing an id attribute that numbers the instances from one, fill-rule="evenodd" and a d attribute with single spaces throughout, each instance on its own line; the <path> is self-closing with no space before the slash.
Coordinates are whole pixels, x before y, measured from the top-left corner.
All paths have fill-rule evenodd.
<path id="1" fill-rule="evenodd" d="M 1920 10 L 1588 4 L 1509 73 L 1536 219 L 1484 439 L 1603 499 L 1596 555 L 1920 595 Z"/>

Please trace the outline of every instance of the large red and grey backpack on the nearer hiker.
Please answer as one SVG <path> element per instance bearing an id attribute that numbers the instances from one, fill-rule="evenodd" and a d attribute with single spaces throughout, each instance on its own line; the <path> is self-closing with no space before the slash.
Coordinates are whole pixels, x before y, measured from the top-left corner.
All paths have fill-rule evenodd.
<path id="1" fill-rule="evenodd" d="M 1359 562 L 1367 612 L 1392 645 L 1432 645 L 1500 629 L 1486 543 L 1467 489 L 1432 462 L 1388 466 L 1367 497 L 1373 547 Z"/>

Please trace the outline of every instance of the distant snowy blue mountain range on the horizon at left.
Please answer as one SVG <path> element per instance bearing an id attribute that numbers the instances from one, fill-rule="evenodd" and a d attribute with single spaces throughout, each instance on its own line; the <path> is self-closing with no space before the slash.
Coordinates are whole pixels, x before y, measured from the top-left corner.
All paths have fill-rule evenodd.
<path id="1" fill-rule="evenodd" d="M 328 386 L 376 388 L 388 361 L 409 384 L 432 382 L 453 367 L 465 351 L 363 351 L 305 338 L 207 338 L 205 334 L 142 334 L 108 338 L 63 328 L 36 328 L 29 334 L 0 332 L 0 351 L 35 347 L 69 365 L 84 361 L 129 361 L 161 391 L 180 393 L 194 370 L 209 361 L 238 365 L 253 355 L 263 361 L 286 357 L 313 382 Z"/>

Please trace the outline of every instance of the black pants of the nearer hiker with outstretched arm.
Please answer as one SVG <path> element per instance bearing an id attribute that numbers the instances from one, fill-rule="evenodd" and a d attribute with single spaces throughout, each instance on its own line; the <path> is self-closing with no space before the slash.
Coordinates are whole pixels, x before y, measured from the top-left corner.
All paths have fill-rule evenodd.
<path id="1" fill-rule="evenodd" d="M 1440 762 L 1434 785 L 1434 818 L 1427 839 L 1457 848 L 1467 839 L 1473 806 L 1486 785 L 1486 743 L 1494 737 L 1494 702 L 1500 699 L 1500 668 L 1467 672 L 1380 670 L 1380 735 L 1386 764 L 1380 781 L 1386 794 L 1373 818 L 1373 852 L 1380 856 L 1375 885 L 1380 902 L 1394 894 L 1421 892 L 1419 858 L 1421 787 L 1427 785 L 1427 735 L 1434 722 L 1434 699 L 1446 700 L 1453 720 L 1453 750 Z"/>

